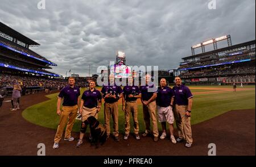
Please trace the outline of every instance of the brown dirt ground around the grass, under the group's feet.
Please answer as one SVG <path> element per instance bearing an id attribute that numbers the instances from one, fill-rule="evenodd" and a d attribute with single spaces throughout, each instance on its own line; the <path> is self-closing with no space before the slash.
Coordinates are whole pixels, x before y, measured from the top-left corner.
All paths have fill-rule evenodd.
<path id="1" fill-rule="evenodd" d="M 76 141 L 61 140 L 60 148 L 55 150 L 52 149 L 55 130 L 29 123 L 21 114 L 28 106 L 46 101 L 48 98 L 44 95 L 22 97 L 19 111 L 10 111 L 10 102 L 3 103 L 0 109 L 0 155 L 36 155 L 39 143 L 46 145 L 46 155 L 207 155 L 209 143 L 216 144 L 217 155 L 255 155 L 255 110 L 226 112 L 192 126 L 194 143 L 190 149 L 181 143 L 174 145 L 167 139 L 155 143 L 151 137 L 137 141 L 130 136 L 127 141 L 121 139 L 118 143 L 109 139 L 98 149 L 91 147 L 88 141 L 76 148 Z M 79 133 L 73 133 L 73 136 L 78 139 Z"/>

